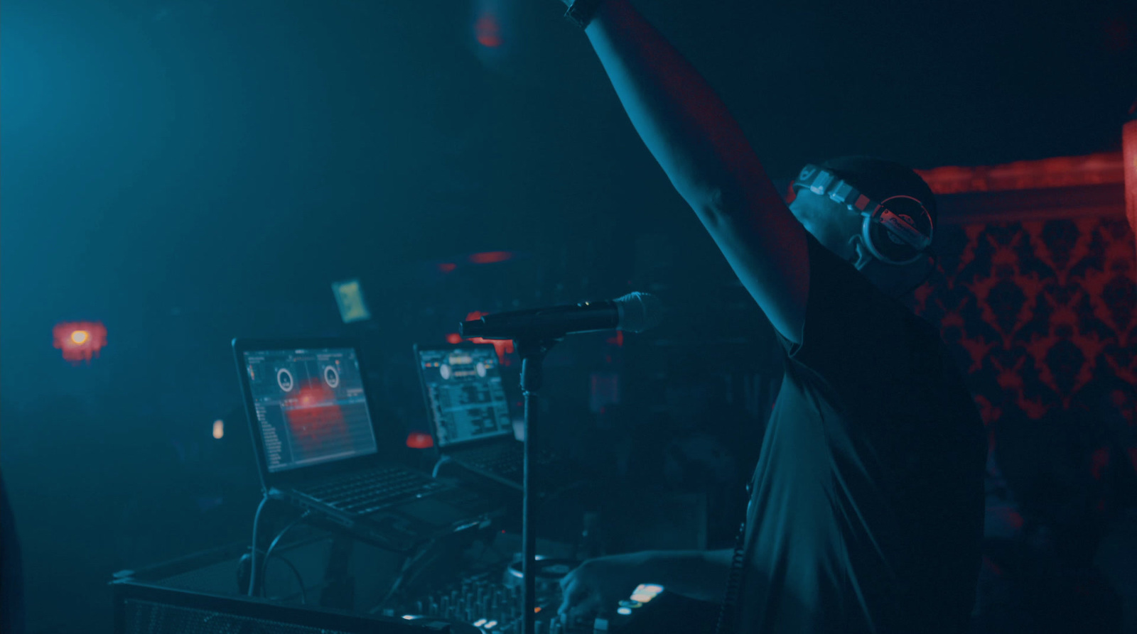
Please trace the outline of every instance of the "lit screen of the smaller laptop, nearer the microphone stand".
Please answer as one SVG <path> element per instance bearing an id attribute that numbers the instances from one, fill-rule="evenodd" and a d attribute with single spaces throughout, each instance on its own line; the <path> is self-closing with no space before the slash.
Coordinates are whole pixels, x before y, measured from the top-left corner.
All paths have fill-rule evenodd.
<path id="1" fill-rule="evenodd" d="M 418 372 L 440 448 L 513 434 L 492 345 L 418 350 Z"/>

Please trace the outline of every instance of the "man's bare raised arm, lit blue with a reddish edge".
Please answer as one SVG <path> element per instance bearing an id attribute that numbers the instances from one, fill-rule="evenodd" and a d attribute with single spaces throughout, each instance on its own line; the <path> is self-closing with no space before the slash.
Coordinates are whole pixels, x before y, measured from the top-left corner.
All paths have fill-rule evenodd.
<path id="1" fill-rule="evenodd" d="M 799 343 L 805 228 L 725 105 L 628 0 L 605 0 L 586 33 L 648 150 L 774 327 Z"/>

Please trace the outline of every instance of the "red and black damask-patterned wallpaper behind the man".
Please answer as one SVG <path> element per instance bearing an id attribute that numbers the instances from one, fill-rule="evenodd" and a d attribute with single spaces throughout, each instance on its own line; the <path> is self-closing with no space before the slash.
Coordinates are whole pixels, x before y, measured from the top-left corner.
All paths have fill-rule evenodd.
<path id="1" fill-rule="evenodd" d="M 986 423 L 1137 385 L 1137 257 L 1123 217 L 949 225 L 937 242 L 939 272 L 913 308 L 940 325 Z"/>

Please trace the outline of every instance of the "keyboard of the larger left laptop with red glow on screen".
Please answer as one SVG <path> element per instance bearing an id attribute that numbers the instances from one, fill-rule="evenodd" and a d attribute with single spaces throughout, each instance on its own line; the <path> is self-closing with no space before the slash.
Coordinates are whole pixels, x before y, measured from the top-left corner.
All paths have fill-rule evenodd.
<path id="1" fill-rule="evenodd" d="M 446 484 L 417 472 L 382 467 L 307 487 L 301 492 L 333 508 L 364 515 L 414 494 L 428 495 L 445 489 L 448 489 Z"/>

